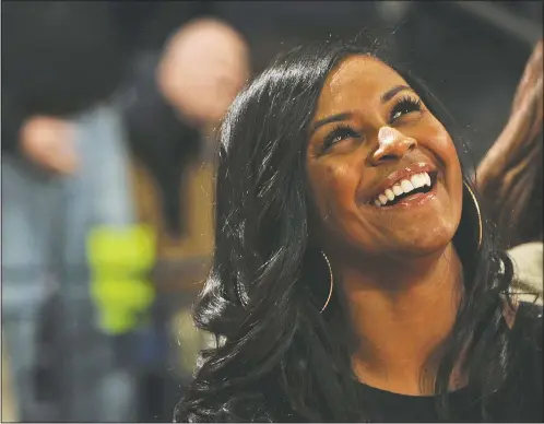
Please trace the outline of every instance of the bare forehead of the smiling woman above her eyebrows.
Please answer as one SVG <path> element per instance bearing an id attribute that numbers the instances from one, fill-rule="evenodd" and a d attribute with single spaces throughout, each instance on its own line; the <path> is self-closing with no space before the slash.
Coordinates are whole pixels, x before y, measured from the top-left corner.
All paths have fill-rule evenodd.
<path id="1" fill-rule="evenodd" d="M 397 85 L 407 85 L 392 68 L 370 56 L 351 56 L 331 71 L 319 96 L 316 119 L 376 102 Z"/>

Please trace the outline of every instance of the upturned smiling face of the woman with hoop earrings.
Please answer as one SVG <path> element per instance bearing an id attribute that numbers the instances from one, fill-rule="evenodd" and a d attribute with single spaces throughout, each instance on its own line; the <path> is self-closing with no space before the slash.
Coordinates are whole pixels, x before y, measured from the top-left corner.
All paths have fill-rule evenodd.
<path id="1" fill-rule="evenodd" d="M 444 248 L 459 225 L 462 177 L 450 136 L 375 58 L 348 57 L 328 76 L 307 172 L 326 251 L 421 256 Z"/>

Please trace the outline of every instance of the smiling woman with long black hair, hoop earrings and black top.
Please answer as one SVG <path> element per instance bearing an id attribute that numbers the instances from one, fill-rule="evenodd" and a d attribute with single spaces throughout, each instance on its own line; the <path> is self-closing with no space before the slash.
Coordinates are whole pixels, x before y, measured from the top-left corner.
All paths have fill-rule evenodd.
<path id="1" fill-rule="evenodd" d="M 542 420 L 542 308 L 511 299 L 450 131 L 416 79 L 343 43 L 238 95 L 194 311 L 217 345 L 177 421 Z"/>

